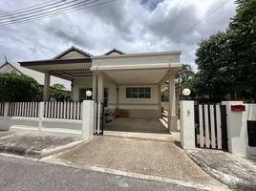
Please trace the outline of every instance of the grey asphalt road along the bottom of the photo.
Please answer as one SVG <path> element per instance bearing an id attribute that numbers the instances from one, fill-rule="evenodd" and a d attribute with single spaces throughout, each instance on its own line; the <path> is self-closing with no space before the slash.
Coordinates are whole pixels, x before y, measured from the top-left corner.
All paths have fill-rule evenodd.
<path id="1" fill-rule="evenodd" d="M 197 190 L 181 185 L 137 180 L 29 159 L 0 156 L 0 190 Z"/>

